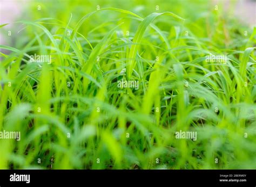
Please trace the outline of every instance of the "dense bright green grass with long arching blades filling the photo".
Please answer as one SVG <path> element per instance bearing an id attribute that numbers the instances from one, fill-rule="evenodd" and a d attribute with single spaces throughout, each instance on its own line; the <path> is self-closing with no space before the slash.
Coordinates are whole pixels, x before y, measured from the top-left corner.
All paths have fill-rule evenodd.
<path id="1" fill-rule="evenodd" d="M 0 169 L 255 169 L 256 29 L 234 4 L 27 3 L 1 25 L 0 131 L 21 134 Z"/>

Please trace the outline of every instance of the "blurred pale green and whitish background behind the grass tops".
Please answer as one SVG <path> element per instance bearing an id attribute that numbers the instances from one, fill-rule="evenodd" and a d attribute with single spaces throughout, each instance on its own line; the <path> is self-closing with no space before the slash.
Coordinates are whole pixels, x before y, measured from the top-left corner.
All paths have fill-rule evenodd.
<path id="1" fill-rule="evenodd" d="M 208 1 L 208 3 L 206 3 Z M 1 0 L 0 25 L 9 25 L 1 30 L 1 44 L 9 44 L 8 29 L 14 28 L 16 20 L 37 20 L 51 17 L 68 22 L 72 13 L 73 23 L 76 23 L 86 13 L 99 8 L 115 7 L 137 13 L 145 17 L 151 12 L 170 11 L 187 19 L 196 20 L 215 10 L 218 6 L 223 11 L 223 16 L 234 17 L 250 27 L 256 23 L 255 0 L 132 0 L 127 3 L 122 0 L 104 1 L 29 1 L 29 0 Z M 157 8 L 158 7 L 158 8 Z M 156 10 L 158 9 L 158 10 Z M 202 10 L 203 9 L 203 10 Z M 196 14 L 195 12 L 200 12 Z M 71 23 L 72 24 L 72 23 Z M 17 26 L 17 25 L 16 25 Z M 21 27 L 19 27 L 21 29 Z M 17 34 L 17 32 L 15 32 Z"/>

